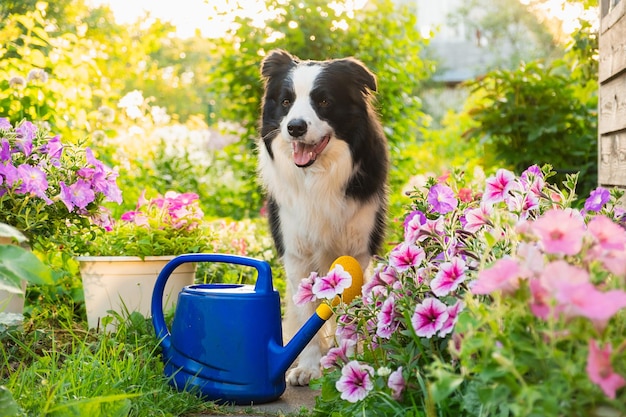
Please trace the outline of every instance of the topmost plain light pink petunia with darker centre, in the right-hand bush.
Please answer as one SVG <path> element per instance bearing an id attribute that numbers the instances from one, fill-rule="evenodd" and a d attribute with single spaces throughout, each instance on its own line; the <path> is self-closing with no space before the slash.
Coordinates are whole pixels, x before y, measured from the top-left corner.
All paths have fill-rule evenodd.
<path id="1" fill-rule="evenodd" d="M 551 209 L 535 220 L 531 228 L 547 253 L 575 255 L 582 248 L 585 223 L 573 212 Z"/>

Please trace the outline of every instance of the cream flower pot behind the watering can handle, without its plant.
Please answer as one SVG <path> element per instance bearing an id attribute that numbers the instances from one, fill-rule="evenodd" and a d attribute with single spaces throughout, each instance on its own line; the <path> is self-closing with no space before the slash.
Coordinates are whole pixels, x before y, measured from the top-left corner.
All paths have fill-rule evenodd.
<path id="1" fill-rule="evenodd" d="M 100 321 L 113 310 L 121 315 L 137 311 L 151 315 L 152 291 L 159 273 L 175 256 L 79 256 L 89 328 L 102 328 Z M 194 283 L 196 264 L 176 268 L 165 286 L 164 309 L 175 305 L 178 293 Z M 113 325 L 105 330 L 114 330 Z"/>

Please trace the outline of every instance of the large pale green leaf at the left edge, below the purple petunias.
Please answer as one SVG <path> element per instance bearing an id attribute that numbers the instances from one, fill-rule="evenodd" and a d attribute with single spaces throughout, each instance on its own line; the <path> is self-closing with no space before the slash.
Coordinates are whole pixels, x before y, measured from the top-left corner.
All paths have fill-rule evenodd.
<path id="1" fill-rule="evenodd" d="M 32 284 L 54 283 L 51 269 L 32 252 L 15 245 L 0 245 L 0 288 L 19 288 L 21 280 Z"/>

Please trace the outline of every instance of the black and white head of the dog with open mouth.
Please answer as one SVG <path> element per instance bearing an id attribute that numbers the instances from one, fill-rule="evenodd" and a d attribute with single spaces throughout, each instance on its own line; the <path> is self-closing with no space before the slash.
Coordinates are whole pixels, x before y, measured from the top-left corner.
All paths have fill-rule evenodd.
<path id="1" fill-rule="evenodd" d="M 293 162 L 312 165 L 333 140 L 349 141 L 368 117 L 376 78 L 354 58 L 301 61 L 272 51 L 261 65 L 265 80 L 261 135 L 289 142 Z"/>

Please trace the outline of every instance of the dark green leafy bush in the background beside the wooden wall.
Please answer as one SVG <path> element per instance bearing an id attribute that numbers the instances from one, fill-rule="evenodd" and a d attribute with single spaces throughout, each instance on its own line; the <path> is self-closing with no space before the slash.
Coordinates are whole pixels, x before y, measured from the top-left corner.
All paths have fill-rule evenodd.
<path id="1" fill-rule="evenodd" d="M 581 195 L 597 183 L 596 100 L 581 101 L 563 63 L 522 64 L 495 70 L 470 84 L 479 98 L 470 116 L 478 124 L 467 132 L 484 145 L 485 165 L 504 164 L 521 172 L 532 164 L 551 164 L 560 173 L 581 173 Z"/>

